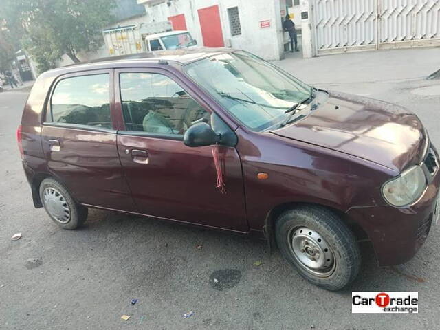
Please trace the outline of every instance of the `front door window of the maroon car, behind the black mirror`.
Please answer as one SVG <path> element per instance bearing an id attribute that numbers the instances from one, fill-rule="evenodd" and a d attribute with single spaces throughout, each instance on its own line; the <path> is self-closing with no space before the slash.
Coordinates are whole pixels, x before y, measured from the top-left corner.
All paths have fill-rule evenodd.
<path id="1" fill-rule="evenodd" d="M 120 89 L 126 131 L 176 137 L 197 122 L 210 122 L 210 113 L 163 74 L 122 73 Z"/>

